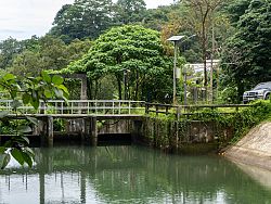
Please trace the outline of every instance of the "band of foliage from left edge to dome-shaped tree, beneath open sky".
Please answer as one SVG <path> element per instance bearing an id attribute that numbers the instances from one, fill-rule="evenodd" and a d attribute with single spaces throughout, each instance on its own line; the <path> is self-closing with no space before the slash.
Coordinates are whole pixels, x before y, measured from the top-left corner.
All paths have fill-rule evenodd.
<path id="1" fill-rule="evenodd" d="M 65 68 L 88 51 L 91 41 L 75 39 L 65 44 L 59 38 L 44 36 L 23 41 L 10 38 L 0 46 L 3 48 L 0 58 L 5 59 L 0 62 L 3 69 L 17 76 L 37 76 L 41 71 Z"/>

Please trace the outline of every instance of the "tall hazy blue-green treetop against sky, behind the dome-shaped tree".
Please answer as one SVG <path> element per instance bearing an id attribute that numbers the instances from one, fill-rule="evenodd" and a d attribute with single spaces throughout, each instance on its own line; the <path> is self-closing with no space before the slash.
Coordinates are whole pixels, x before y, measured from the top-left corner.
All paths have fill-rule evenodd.
<path id="1" fill-rule="evenodd" d="M 113 24 L 112 0 L 76 0 L 57 12 L 50 34 L 73 39 L 96 38 Z"/>

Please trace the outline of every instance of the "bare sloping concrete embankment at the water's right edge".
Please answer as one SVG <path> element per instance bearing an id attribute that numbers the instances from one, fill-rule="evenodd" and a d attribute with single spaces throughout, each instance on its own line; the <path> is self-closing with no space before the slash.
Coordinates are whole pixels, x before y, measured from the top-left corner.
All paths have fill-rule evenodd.
<path id="1" fill-rule="evenodd" d="M 271 170 L 271 123 L 262 123 L 253 128 L 223 155 L 237 163 Z"/>

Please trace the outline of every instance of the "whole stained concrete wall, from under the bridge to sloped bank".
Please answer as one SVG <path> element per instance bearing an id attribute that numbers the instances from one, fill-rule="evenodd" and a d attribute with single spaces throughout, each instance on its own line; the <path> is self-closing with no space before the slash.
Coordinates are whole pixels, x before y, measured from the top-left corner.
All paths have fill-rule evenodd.
<path id="1" fill-rule="evenodd" d="M 50 122 L 50 123 L 49 123 Z M 51 125 L 50 125 L 51 124 Z M 50 125 L 50 126 L 49 126 Z M 78 135 L 78 140 L 96 145 L 99 135 L 131 135 L 133 142 L 182 153 L 216 151 L 221 142 L 231 139 L 231 128 L 218 127 L 215 123 L 172 122 L 160 118 L 106 119 L 96 117 L 67 119 L 65 135 Z M 53 144 L 52 120 L 43 118 L 35 133 Z M 47 136 L 50 135 L 50 136 Z"/>

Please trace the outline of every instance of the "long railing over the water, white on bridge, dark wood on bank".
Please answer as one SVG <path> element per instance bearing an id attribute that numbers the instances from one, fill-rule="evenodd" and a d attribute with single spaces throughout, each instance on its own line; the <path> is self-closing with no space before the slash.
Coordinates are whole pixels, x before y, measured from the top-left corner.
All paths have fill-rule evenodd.
<path id="1" fill-rule="evenodd" d="M 169 105 L 146 103 L 144 101 L 128 100 L 49 100 L 40 102 L 38 110 L 30 105 L 22 105 L 17 110 L 22 114 L 89 114 L 89 115 L 143 115 L 155 113 L 156 115 L 173 114 L 176 118 L 189 117 L 201 113 L 203 110 L 218 110 L 221 114 L 232 114 L 240 109 L 253 106 L 250 104 L 223 104 L 223 105 Z M 219 111 L 220 110 L 220 111 Z M 223 111 L 221 111 L 223 110 Z M 225 111 L 227 110 L 227 111 Z M 12 100 L 0 100 L 0 111 L 12 113 Z"/>

